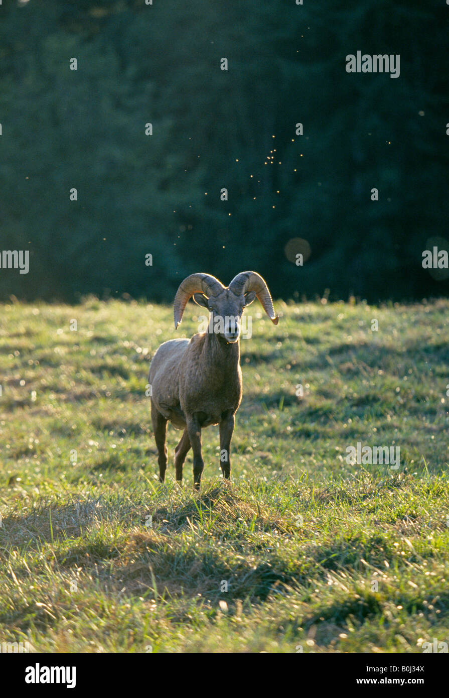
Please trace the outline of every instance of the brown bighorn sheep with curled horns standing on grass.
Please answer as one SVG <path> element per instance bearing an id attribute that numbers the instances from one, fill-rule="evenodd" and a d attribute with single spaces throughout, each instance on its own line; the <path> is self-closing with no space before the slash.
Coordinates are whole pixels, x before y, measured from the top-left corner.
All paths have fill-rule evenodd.
<path id="1" fill-rule="evenodd" d="M 149 384 L 160 482 L 164 482 L 167 468 L 165 438 L 169 421 L 176 429 L 184 430 L 175 449 L 176 480 L 183 479 L 183 463 L 192 447 L 194 487 L 199 489 L 204 468 L 204 427 L 220 425 L 220 466 L 223 477 L 229 479 L 231 473 L 229 447 L 234 415 L 242 398 L 239 339 L 243 309 L 257 297 L 275 325 L 279 318 L 268 287 L 256 272 L 237 274 L 227 288 L 215 276 L 190 274 L 174 299 L 175 329 L 191 297 L 210 311 L 208 331 L 194 334 L 192 339 L 171 339 L 161 344 L 151 361 Z"/>

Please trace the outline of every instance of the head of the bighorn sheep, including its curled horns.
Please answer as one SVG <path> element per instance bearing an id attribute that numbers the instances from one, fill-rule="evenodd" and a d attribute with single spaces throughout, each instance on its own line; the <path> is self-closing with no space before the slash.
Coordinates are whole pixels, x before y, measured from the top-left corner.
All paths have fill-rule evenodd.
<path id="1" fill-rule="evenodd" d="M 238 341 L 243 310 L 256 297 L 268 318 L 275 325 L 279 321 L 275 315 L 268 287 L 256 272 L 237 274 L 227 288 L 215 279 L 215 276 L 190 274 L 179 286 L 174 299 L 175 328 L 181 322 L 185 306 L 191 297 L 197 305 L 206 308 L 212 314 L 211 327 L 216 334 L 229 343 Z"/>

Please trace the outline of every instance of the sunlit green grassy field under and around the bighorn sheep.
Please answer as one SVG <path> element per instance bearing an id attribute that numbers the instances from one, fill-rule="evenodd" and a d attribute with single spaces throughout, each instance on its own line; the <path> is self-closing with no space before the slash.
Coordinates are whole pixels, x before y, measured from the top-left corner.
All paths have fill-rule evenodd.
<path id="1" fill-rule="evenodd" d="M 241 341 L 232 482 L 209 427 L 194 493 L 191 452 L 174 482 L 170 427 L 158 483 L 145 387 L 158 345 L 196 331 L 196 306 L 176 333 L 168 306 L 0 307 L 0 642 L 138 653 L 449 642 L 449 302 L 276 310 L 274 327 L 254 303 Z M 399 468 L 349 464 L 357 443 L 399 446 Z"/>

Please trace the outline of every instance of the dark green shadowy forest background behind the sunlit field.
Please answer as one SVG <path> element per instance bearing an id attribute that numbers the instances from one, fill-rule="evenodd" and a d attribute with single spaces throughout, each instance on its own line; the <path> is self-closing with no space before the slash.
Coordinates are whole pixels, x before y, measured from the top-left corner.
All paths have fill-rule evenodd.
<path id="1" fill-rule="evenodd" d="M 445 0 L 3 0 L 0 249 L 29 249 L 30 271 L 1 269 L 0 298 L 169 301 L 192 272 L 245 269 L 275 297 L 448 295 L 421 265 L 448 248 L 448 17 Z M 400 76 L 346 73 L 357 50 L 400 54 Z"/>

